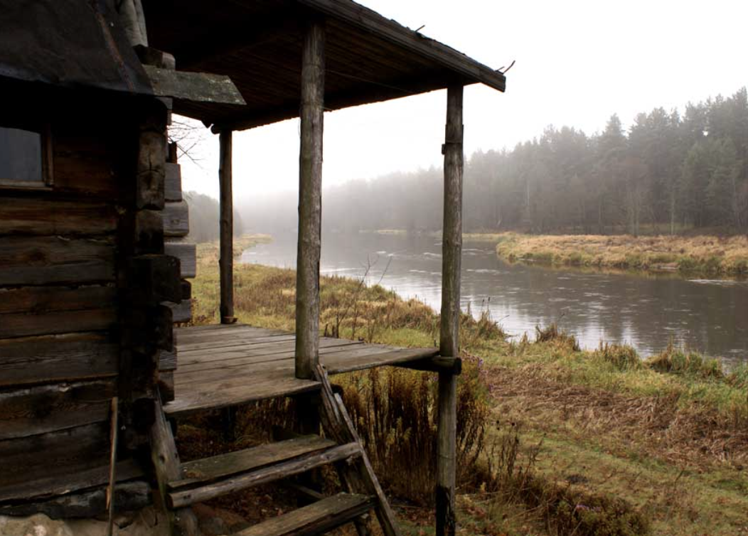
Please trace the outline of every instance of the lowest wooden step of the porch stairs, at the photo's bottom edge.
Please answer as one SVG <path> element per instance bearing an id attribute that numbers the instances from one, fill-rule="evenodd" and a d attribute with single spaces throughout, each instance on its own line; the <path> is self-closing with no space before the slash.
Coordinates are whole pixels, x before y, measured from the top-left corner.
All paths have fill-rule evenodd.
<path id="1" fill-rule="evenodd" d="M 236 536 L 318 535 L 349 523 L 370 511 L 374 505 L 373 497 L 339 493 L 251 526 Z"/>

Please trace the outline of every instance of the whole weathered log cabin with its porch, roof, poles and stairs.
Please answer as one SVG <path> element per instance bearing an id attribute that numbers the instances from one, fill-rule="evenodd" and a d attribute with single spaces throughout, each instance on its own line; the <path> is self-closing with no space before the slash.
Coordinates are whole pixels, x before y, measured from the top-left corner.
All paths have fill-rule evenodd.
<path id="1" fill-rule="evenodd" d="M 454 534 L 462 95 L 502 73 L 349 0 L 0 0 L 0 515 L 191 505 L 325 464 L 341 493 L 242 532 L 399 534 L 328 375 L 439 373 L 437 534 Z M 209 74 L 205 74 L 209 73 Z M 319 334 L 324 112 L 447 88 L 440 348 Z M 221 324 L 190 318 L 171 113 L 220 135 Z M 233 314 L 232 132 L 300 117 L 296 332 Z M 435 150 L 439 150 L 438 147 Z M 169 422 L 304 397 L 304 435 L 180 463 Z"/>

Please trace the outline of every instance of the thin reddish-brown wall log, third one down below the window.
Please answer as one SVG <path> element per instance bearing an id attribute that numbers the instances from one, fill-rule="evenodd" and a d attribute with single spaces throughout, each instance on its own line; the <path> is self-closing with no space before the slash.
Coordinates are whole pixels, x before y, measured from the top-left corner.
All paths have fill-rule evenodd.
<path id="1" fill-rule="evenodd" d="M 45 312 L 102 309 L 117 299 L 113 285 L 82 286 L 24 286 L 16 289 L 0 289 L 0 314 L 8 312 L 30 312 L 40 315 Z M 0 326 L 1 326 L 0 322 Z"/>

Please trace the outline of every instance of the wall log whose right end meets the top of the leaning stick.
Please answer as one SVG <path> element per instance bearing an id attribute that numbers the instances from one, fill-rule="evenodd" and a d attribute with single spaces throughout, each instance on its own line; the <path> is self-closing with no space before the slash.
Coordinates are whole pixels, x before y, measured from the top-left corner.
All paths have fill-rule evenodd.
<path id="1" fill-rule="evenodd" d="M 0 440 L 108 420 L 111 380 L 55 383 L 0 392 Z"/>

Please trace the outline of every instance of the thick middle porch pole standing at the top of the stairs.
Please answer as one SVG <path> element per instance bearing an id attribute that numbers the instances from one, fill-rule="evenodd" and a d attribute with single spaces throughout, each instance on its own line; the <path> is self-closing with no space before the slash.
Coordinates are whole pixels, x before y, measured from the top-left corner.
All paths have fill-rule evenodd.
<path id="1" fill-rule="evenodd" d="M 310 22 L 301 59 L 301 150 L 298 158 L 296 378 L 312 378 L 319 361 L 319 253 L 322 226 L 322 129 L 325 25 Z"/>

